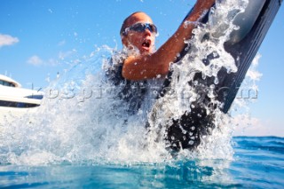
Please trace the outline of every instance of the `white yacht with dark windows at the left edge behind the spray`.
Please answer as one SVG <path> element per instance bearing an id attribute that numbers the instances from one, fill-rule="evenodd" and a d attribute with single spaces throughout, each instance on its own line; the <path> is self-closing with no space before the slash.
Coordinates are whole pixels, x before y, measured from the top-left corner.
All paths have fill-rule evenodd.
<path id="1" fill-rule="evenodd" d="M 42 98 L 42 91 L 23 89 L 12 78 L 0 75 L 0 123 L 34 111 Z"/>

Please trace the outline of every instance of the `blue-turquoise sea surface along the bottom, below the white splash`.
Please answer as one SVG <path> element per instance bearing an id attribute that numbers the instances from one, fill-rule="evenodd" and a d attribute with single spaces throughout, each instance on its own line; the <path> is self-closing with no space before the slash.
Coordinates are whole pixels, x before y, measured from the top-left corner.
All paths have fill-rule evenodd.
<path id="1" fill-rule="evenodd" d="M 233 138 L 233 160 L 45 166 L 1 163 L 3 188 L 283 188 L 284 138 Z"/>

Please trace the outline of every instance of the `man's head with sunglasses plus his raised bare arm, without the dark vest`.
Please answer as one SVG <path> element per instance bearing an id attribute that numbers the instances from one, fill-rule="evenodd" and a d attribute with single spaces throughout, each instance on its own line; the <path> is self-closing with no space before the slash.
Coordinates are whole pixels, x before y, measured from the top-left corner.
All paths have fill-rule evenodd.
<path id="1" fill-rule="evenodd" d="M 185 40 L 192 37 L 195 23 L 214 3 L 215 0 L 198 0 L 175 34 L 157 51 L 154 51 L 157 28 L 151 18 L 144 12 L 131 14 L 122 24 L 122 44 L 129 50 L 136 49 L 138 54 L 124 59 L 122 77 L 130 81 L 140 81 L 167 75 L 170 63 L 175 62 L 177 54 L 185 47 Z"/>

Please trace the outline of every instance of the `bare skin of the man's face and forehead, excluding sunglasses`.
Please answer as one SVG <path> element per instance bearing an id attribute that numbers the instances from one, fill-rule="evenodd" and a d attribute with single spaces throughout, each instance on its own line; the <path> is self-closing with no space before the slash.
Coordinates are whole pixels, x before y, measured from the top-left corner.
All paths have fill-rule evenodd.
<path id="1" fill-rule="evenodd" d="M 122 37 L 122 43 L 129 49 L 136 47 L 141 54 L 152 53 L 154 51 L 154 39 L 155 33 L 146 28 L 143 31 L 135 31 L 129 29 L 131 26 L 137 23 L 149 23 L 153 24 L 153 21 L 146 13 L 138 12 L 133 14 L 126 23 L 126 35 Z"/>

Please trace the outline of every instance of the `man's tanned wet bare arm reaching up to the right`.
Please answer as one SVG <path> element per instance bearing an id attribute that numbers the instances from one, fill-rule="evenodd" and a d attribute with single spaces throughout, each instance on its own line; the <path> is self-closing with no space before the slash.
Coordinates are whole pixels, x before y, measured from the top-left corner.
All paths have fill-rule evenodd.
<path id="1" fill-rule="evenodd" d="M 192 37 L 194 22 L 199 20 L 203 12 L 208 11 L 214 3 L 215 0 L 198 0 L 193 7 L 193 12 L 157 51 L 151 55 L 130 56 L 125 59 L 122 76 L 129 80 L 143 80 L 157 75 L 167 75 L 170 62 L 177 59 L 177 54 L 185 47 L 185 40 Z"/>

